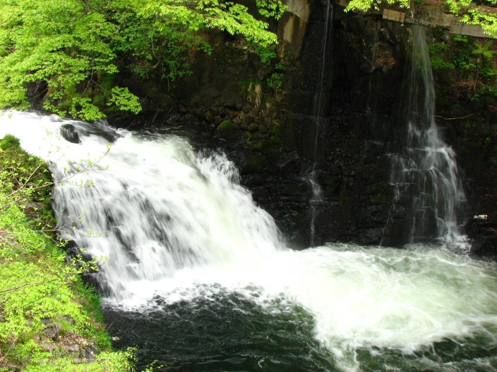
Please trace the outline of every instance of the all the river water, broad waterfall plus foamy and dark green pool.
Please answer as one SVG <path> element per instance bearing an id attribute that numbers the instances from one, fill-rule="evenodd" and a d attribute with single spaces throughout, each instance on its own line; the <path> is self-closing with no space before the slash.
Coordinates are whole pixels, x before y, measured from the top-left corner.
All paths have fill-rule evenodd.
<path id="1" fill-rule="evenodd" d="M 178 136 L 15 112 L 5 133 L 71 177 L 53 196 L 63 235 L 105 257 L 105 317 L 140 368 L 497 370 L 495 264 L 427 245 L 287 249 L 226 156 Z"/>

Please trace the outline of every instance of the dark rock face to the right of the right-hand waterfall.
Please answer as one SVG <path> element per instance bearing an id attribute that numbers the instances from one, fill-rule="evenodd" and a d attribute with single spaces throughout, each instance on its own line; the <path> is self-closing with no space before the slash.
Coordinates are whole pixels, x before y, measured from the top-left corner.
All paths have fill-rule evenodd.
<path id="1" fill-rule="evenodd" d="M 497 260 L 497 122 L 495 104 L 471 99 L 440 102 L 438 115 L 443 118 L 445 138 L 457 154 L 464 175 L 468 200 L 465 233 L 471 240 L 471 254 Z M 474 219 L 487 215 L 487 219 Z"/>

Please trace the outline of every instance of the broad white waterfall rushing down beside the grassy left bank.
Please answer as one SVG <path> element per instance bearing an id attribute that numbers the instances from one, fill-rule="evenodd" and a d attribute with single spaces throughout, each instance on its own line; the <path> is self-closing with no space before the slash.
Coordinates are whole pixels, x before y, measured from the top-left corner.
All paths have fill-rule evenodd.
<path id="1" fill-rule="evenodd" d="M 80 133 L 82 143 L 73 144 L 61 137 L 56 117 L 13 115 L 37 122 L 28 138 L 14 131 L 23 146 L 53 164 L 56 180 L 70 177 L 53 192 L 62 238 L 103 257 L 98 281 L 114 298 L 126 298 L 133 282 L 248 262 L 283 247 L 272 217 L 253 203 L 221 153 L 195 153 L 174 135 L 136 135 L 106 123 L 95 132 L 95 124 L 64 121 Z M 50 138 L 41 140 L 45 131 Z M 78 172 L 88 162 L 98 167 Z"/>

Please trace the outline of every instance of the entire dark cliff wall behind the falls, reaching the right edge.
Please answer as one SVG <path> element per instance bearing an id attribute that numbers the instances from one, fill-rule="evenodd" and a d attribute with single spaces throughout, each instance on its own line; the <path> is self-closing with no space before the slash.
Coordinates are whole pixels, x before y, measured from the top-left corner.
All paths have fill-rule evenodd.
<path id="1" fill-rule="evenodd" d="M 179 121 L 201 137 L 202 145 L 228 152 L 240 167 L 243 184 L 295 247 L 309 242 L 312 190 L 306 177 L 315 161 L 324 194 L 316 206 L 318 240 L 400 246 L 406 242 L 406 221 L 400 216 L 388 229 L 385 226 L 393 199 L 390 154 L 399 151 L 406 130 L 402 102 L 412 32 L 379 15 L 346 15 L 335 6 L 323 84 L 327 105 L 318 135 L 319 156 L 314 159 L 313 107 L 326 5 L 308 5 L 305 22 L 294 13 L 282 18 L 299 27 L 291 32 L 296 41 L 282 42 L 268 64 L 238 40 L 214 33 L 206 35 L 216 45 L 214 53 L 192 55 L 190 77 L 174 86 L 137 82 L 146 110 L 134 125 L 163 127 Z M 280 22 L 280 34 L 285 27 Z M 432 41 L 449 39 L 440 31 L 430 35 Z M 278 89 L 268 83 L 275 73 L 281 74 Z M 435 79 L 439 88 L 446 85 L 447 76 L 435 71 Z M 491 216 L 468 225 L 475 238 L 490 237 L 475 245 L 476 251 L 488 253 L 495 250 L 495 100 L 454 101 L 443 89 L 437 94 L 440 117 L 472 114 L 437 122 L 466 176 L 468 217 Z"/>

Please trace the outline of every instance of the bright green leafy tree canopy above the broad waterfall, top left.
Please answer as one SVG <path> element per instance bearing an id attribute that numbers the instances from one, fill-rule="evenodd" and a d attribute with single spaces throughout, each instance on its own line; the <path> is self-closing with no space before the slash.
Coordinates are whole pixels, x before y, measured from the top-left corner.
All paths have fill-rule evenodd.
<path id="1" fill-rule="evenodd" d="M 257 0 L 279 18 L 280 0 Z M 199 31 L 219 29 L 268 46 L 266 22 L 223 0 L 0 0 L 0 108 L 27 109 L 38 86 L 43 107 L 83 120 L 103 108 L 138 113 L 138 97 L 115 84 L 129 68 L 168 81 L 188 74 L 188 52 L 211 52 Z"/>

